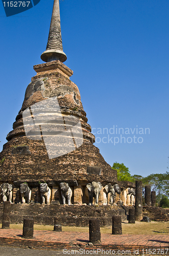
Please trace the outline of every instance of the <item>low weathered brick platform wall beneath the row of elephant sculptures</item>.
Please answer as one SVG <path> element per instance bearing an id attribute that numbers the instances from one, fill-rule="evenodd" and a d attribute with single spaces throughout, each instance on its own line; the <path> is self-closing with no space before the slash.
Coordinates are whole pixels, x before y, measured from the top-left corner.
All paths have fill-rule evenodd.
<path id="1" fill-rule="evenodd" d="M 54 225 L 54 217 L 62 217 L 62 225 L 89 225 L 89 219 L 98 218 L 101 226 L 111 225 L 112 215 L 124 218 L 125 210 L 120 206 L 77 206 L 11 204 L 11 223 L 23 223 L 24 218 L 33 218 L 35 224 Z M 2 221 L 3 204 L 0 207 Z"/>

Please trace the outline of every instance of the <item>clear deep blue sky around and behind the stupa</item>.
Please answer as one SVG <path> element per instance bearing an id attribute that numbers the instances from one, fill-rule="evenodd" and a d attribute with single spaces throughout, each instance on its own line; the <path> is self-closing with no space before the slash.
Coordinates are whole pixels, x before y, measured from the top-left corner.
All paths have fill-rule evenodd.
<path id="1" fill-rule="evenodd" d="M 46 49 L 52 5 L 52 0 L 41 0 L 10 17 L 0 5 L 0 151 L 25 89 L 36 75 L 33 66 L 43 62 L 40 55 Z M 60 12 L 68 57 L 64 63 L 74 71 L 71 80 L 79 88 L 100 153 L 111 166 L 123 162 L 132 175 L 165 173 L 169 166 L 169 2 L 64 0 Z M 116 128 L 122 128 L 120 134 Z M 129 134 L 122 134 L 123 130 Z"/>

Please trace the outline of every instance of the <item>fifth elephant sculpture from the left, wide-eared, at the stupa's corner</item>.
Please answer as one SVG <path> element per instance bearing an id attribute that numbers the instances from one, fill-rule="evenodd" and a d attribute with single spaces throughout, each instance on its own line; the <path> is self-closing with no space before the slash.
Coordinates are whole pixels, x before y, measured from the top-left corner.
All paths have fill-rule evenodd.
<path id="1" fill-rule="evenodd" d="M 93 205 L 93 198 L 95 199 L 95 205 L 99 203 L 99 195 L 102 185 L 100 182 L 93 181 L 92 183 L 87 184 L 89 205 Z"/>

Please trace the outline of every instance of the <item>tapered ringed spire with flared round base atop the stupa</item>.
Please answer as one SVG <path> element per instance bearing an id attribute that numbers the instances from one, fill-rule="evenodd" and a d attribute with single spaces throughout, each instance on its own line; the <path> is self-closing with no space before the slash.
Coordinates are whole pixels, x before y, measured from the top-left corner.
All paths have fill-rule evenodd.
<path id="1" fill-rule="evenodd" d="M 45 62 L 58 59 L 64 62 L 67 59 L 62 46 L 59 0 L 54 0 L 46 51 L 42 53 L 41 59 Z"/>

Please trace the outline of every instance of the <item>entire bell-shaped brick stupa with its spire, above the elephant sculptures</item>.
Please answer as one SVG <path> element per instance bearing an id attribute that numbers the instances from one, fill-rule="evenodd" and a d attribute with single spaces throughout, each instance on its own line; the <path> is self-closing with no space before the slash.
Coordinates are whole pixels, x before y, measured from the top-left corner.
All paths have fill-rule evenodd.
<path id="1" fill-rule="evenodd" d="M 62 46 L 59 0 L 54 0 L 41 59 L 46 63 L 34 66 L 37 75 L 27 86 L 13 131 L 0 154 L 0 181 L 16 187 L 27 182 L 35 190 L 40 182 L 53 189 L 64 181 L 74 189 L 74 203 L 81 204 L 83 186 L 92 181 L 114 183 L 117 173 L 93 145 L 95 136 L 78 87 L 69 79 L 73 71 L 63 64 L 67 57 Z"/>

